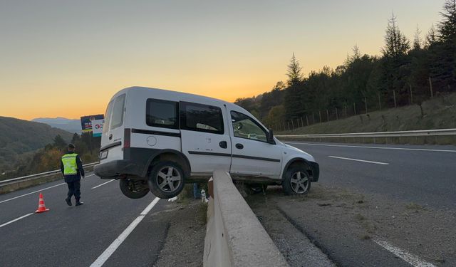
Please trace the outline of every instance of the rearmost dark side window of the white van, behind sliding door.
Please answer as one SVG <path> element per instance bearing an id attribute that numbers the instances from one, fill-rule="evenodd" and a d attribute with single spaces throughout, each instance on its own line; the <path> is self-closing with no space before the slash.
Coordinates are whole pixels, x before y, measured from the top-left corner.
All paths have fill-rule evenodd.
<path id="1" fill-rule="evenodd" d="M 177 102 L 147 99 L 145 122 L 152 127 L 179 129 Z"/>

